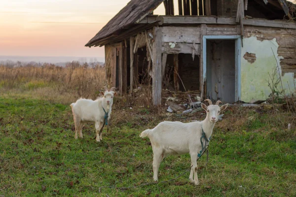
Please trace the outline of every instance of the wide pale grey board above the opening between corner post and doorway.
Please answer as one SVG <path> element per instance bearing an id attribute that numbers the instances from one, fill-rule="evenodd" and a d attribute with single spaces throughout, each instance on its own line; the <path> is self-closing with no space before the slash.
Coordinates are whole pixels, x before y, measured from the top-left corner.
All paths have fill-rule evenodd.
<path id="1" fill-rule="evenodd" d="M 163 27 L 162 41 L 163 42 L 186 42 L 200 43 L 200 28 L 199 27 Z"/>

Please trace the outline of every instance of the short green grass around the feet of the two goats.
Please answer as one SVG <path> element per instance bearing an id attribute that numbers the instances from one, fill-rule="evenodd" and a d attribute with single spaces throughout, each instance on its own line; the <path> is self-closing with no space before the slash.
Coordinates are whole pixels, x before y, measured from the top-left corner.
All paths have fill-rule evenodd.
<path id="1" fill-rule="evenodd" d="M 171 183 L 123 191 L 103 188 L 100 193 L 101 186 L 152 181 L 152 149 L 148 138 L 139 137 L 150 124 L 143 121 L 133 128 L 133 122 L 111 121 L 111 132 L 105 130 L 100 143 L 93 139 L 94 125 L 88 124 L 84 138 L 75 140 L 69 105 L 0 97 L 0 196 L 296 196 L 295 136 L 285 138 L 292 131 L 277 128 L 279 140 L 278 132 L 267 125 L 268 115 L 251 115 L 255 118 L 242 131 L 214 129 L 209 163 L 205 166 L 205 157 L 198 161 L 199 186 L 189 183 L 187 172 Z M 174 178 L 189 166 L 189 155 L 169 156 L 160 164 L 159 181 Z"/>

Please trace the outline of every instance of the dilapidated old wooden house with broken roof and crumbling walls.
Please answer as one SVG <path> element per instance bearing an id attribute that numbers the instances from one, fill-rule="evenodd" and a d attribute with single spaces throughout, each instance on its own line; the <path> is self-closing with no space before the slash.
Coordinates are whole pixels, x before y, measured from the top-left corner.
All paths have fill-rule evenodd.
<path id="1" fill-rule="evenodd" d="M 295 91 L 294 9 L 286 0 L 131 0 L 85 46 L 105 46 L 108 82 L 122 94 L 141 83 L 155 105 L 163 87 L 250 102 L 268 98 L 273 77 Z"/>

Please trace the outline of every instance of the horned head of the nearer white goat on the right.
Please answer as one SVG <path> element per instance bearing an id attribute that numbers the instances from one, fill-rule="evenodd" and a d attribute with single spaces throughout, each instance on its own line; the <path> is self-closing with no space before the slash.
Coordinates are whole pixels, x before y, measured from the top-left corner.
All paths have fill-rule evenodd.
<path id="1" fill-rule="evenodd" d="M 209 100 L 209 99 L 207 99 Z M 201 107 L 207 112 L 207 118 L 208 121 L 210 121 L 211 123 L 216 123 L 219 120 L 219 114 L 220 112 L 222 112 L 223 110 L 225 110 L 228 106 L 228 104 L 224 104 L 221 107 L 219 107 L 219 102 L 221 102 L 220 100 L 218 100 L 216 102 L 215 105 L 212 104 L 212 102 L 209 101 L 210 105 L 207 106 L 204 103 L 201 103 Z"/>

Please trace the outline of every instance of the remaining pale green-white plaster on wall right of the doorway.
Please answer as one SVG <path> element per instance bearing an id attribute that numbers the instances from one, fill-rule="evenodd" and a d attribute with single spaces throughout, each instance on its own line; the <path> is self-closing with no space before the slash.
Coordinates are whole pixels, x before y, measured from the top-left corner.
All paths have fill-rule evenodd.
<path id="1" fill-rule="evenodd" d="M 271 89 L 268 87 L 268 80 L 271 81 L 269 74 L 272 75 L 273 70 L 277 69 L 277 63 L 280 65 L 280 59 L 282 59 L 277 54 L 278 47 L 279 45 L 275 38 L 273 40 L 260 41 L 256 36 L 252 36 L 243 39 L 241 50 L 241 100 L 252 102 L 268 98 L 271 93 Z M 246 52 L 256 54 L 256 61 L 254 63 L 249 63 L 243 57 Z M 294 92 L 294 73 L 285 73 L 282 76 L 281 69 L 279 72 L 285 91 L 290 93 L 290 86 L 290 89 Z M 277 74 L 277 77 L 279 77 L 279 74 Z M 278 88 L 280 87 L 281 85 L 279 84 Z"/>

